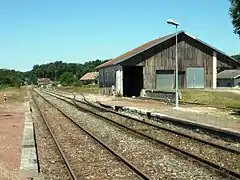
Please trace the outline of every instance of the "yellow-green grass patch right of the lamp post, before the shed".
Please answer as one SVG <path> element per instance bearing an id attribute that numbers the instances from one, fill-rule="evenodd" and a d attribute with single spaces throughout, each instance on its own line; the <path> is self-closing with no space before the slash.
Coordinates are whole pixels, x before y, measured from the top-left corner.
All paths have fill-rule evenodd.
<path id="1" fill-rule="evenodd" d="M 182 102 L 205 104 L 217 108 L 240 108 L 240 95 L 232 92 L 182 90 Z"/>

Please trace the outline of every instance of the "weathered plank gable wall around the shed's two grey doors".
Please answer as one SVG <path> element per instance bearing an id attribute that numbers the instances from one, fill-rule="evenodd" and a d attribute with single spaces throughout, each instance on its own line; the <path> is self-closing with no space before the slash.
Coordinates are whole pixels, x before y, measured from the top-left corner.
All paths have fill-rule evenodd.
<path id="1" fill-rule="evenodd" d="M 156 88 L 156 70 L 175 69 L 175 39 L 170 39 L 146 53 L 158 52 L 145 61 L 144 88 Z M 205 87 L 212 87 L 212 57 L 213 51 L 203 44 L 196 42 L 188 36 L 182 35 L 178 38 L 178 68 L 182 84 L 180 88 L 186 87 L 186 70 L 188 67 L 204 67 Z M 184 73 L 185 72 L 185 73 Z"/>

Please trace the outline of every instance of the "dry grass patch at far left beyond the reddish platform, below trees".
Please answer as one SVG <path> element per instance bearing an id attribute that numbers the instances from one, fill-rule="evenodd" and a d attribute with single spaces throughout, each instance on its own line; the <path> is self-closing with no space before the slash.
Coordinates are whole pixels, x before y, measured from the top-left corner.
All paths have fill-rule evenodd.
<path id="1" fill-rule="evenodd" d="M 27 95 L 27 87 L 14 88 L 9 87 L 6 89 L 0 90 L 0 104 L 3 104 L 4 93 L 7 95 L 7 102 L 24 102 L 24 97 Z"/>

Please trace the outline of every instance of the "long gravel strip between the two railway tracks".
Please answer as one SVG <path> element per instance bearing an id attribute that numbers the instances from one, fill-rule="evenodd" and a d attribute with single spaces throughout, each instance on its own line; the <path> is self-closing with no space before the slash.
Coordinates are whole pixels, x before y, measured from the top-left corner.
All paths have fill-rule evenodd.
<path id="1" fill-rule="evenodd" d="M 47 95 L 46 95 L 47 96 Z M 48 96 L 78 123 L 91 130 L 116 151 L 121 152 L 152 179 L 220 179 L 220 175 L 189 158 L 128 133 Z"/>

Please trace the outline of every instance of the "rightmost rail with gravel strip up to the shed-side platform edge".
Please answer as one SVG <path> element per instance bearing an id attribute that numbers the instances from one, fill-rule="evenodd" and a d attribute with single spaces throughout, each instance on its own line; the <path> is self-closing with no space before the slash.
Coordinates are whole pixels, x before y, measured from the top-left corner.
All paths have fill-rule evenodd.
<path id="1" fill-rule="evenodd" d="M 53 93 L 53 92 L 51 92 L 51 93 Z M 54 92 L 54 94 L 58 95 L 60 97 L 72 100 L 72 98 L 65 96 L 59 92 Z M 189 123 L 182 124 L 183 122 L 178 122 L 178 121 L 175 122 L 175 121 L 166 120 L 166 119 L 150 120 L 150 119 L 148 119 L 148 118 L 150 118 L 149 117 L 151 114 L 150 112 L 143 116 L 140 115 L 141 118 L 139 118 L 139 116 L 138 116 L 138 118 L 136 118 L 136 116 L 134 116 L 134 115 L 130 116 L 129 113 L 127 115 L 124 112 L 121 113 L 122 107 L 120 107 L 120 106 L 116 106 L 115 110 L 112 110 L 109 106 L 106 107 L 105 105 L 101 104 L 100 102 L 96 102 L 97 104 L 93 104 L 93 103 L 89 102 L 87 99 L 85 99 L 84 95 L 82 95 L 82 96 L 83 96 L 84 101 L 79 101 L 77 99 L 75 99 L 75 101 L 78 103 L 82 103 L 82 104 L 91 106 L 92 108 L 95 109 L 96 112 L 97 112 L 97 110 L 109 112 L 112 115 L 116 115 L 116 117 L 120 116 L 127 120 L 138 121 L 143 124 L 147 124 L 152 127 L 159 128 L 161 130 L 172 132 L 176 135 L 183 135 L 185 137 L 195 139 L 199 142 L 208 143 L 212 146 L 219 147 L 219 145 L 220 145 L 219 148 L 223 148 L 224 150 L 228 150 L 230 152 L 240 153 L 240 148 L 238 147 L 239 143 L 240 143 L 240 141 L 239 141 L 240 136 L 235 135 L 232 132 L 221 131 L 221 130 L 219 131 L 218 129 L 215 130 L 215 129 L 211 129 L 211 128 L 205 129 L 205 127 L 199 126 L 198 124 L 196 124 L 196 125 L 189 124 Z"/>

